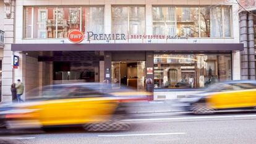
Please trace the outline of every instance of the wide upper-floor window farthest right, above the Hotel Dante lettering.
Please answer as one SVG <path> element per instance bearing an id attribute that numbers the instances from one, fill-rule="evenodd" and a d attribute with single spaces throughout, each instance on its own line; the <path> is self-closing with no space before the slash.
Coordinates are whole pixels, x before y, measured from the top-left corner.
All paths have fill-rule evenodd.
<path id="1" fill-rule="evenodd" d="M 231 37 L 231 8 L 153 7 L 153 35 Z"/>

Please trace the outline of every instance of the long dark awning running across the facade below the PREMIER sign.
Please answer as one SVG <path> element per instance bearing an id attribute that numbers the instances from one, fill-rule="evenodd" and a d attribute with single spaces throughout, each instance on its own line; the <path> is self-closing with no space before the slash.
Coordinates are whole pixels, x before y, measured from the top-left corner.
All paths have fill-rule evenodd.
<path id="1" fill-rule="evenodd" d="M 12 51 L 233 51 L 242 43 L 12 44 Z"/>

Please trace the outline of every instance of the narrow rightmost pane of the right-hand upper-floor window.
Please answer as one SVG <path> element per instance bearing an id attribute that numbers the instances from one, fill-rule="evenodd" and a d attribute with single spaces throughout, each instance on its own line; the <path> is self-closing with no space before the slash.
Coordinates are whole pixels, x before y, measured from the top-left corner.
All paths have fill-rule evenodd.
<path id="1" fill-rule="evenodd" d="M 230 19 L 231 19 L 231 17 L 230 17 L 230 7 L 223 7 L 223 15 L 224 15 L 224 18 L 223 18 L 224 37 L 230 37 L 231 36 L 231 32 L 230 32 L 230 28 L 231 28 L 231 25 L 230 25 Z"/>

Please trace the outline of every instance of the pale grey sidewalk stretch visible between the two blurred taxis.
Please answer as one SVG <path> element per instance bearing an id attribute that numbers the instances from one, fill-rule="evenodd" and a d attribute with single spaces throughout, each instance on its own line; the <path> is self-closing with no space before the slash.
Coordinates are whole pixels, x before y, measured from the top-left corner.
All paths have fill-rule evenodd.
<path id="1" fill-rule="evenodd" d="M 174 104 L 177 100 L 143 101 L 132 104 L 131 114 L 163 113 L 181 111 Z"/>

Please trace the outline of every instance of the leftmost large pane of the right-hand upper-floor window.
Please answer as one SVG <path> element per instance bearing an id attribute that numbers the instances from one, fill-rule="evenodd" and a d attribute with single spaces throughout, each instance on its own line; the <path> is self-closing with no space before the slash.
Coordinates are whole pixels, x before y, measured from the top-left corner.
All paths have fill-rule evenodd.
<path id="1" fill-rule="evenodd" d="M 176 35 L 175 7 L 153 7 L 153 35 Z"/>

